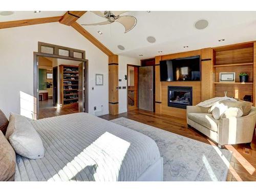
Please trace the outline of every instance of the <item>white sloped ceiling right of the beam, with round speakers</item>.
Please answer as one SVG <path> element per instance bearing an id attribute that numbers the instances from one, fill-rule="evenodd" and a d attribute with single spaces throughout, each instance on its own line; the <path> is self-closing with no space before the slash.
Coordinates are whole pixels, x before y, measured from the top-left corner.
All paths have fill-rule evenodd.
<path id="1" fill-rule="evenodd" d="M 125 14 L 133 15 L 138 20 L 135 28 L 127 33 L 119 23 L 83 27 L 115 54 L 138 58 L 256 40 L 256 12 L 130 11 Z M 199 19 L 208 20 L 208 27 L 196 29 L 194 25 Z M 89 24 L 104 20 L 87 12 L 77 22 Z M 102 35 L 97 31 L 101 31 Z M 148 42 L 148 36 L 154 36 L 156 42 Z M 225 41 L 218 41 L 223 38 Z M 119 50 L 118 45 L 125 50 Z"/>

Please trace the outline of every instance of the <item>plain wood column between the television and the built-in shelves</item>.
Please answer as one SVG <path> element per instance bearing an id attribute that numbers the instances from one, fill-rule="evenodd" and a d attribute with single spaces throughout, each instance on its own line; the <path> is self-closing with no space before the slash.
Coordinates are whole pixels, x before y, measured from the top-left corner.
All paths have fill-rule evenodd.
<path id="1" fill-rule="evenodd" d="M 201 50 L 201 101 L 214 96 L 213 93 L 213 50 L 206 48 Z"/>

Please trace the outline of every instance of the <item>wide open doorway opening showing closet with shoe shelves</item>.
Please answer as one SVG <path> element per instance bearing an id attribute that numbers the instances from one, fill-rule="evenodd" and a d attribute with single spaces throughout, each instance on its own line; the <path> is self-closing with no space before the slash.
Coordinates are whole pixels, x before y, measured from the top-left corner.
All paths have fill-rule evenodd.
<path id="1" fill-rule="evenodd" d="M 80 111 L 81 65 L 83 62 L 76 60 L 38 57 L 39 119 Z"/>

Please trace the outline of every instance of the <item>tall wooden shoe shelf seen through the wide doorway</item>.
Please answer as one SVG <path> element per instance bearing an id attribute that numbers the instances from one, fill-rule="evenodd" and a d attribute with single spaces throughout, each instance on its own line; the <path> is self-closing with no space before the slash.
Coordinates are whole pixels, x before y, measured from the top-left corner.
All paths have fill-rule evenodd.
<path id="1" fill-rule="evenodd" d="M 59 66 L 59 97 L 62 108 L 78 107 L 78 66 Z"/>

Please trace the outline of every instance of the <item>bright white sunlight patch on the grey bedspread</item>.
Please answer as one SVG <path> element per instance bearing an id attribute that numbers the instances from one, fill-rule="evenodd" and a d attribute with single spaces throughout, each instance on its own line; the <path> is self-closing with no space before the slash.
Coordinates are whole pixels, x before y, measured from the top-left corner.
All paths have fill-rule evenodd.
<path id="1" fill-rule="evenodd" d="M 48 181 L 55 180 L 58 175 L 63 175 L 63 173 L 68 180 L 75 180 L 75 176 L 80 172 L 91 173 L 90 176 L 87 176 L 93 180 L 103 180 L 104 178 L 118 180 L 122 161 L 130 145 L 130 142 L 105 132 Z M 91 158 L 88 158 L 88 154 Z M 108 166 L 107 170 L 104 165 Z M 106 175 L 108 177 L 105 177 Z"/>

